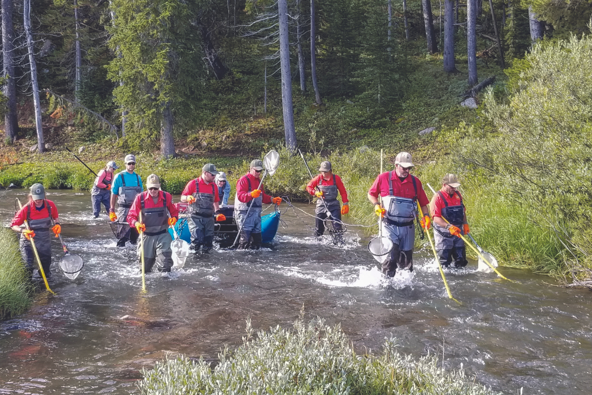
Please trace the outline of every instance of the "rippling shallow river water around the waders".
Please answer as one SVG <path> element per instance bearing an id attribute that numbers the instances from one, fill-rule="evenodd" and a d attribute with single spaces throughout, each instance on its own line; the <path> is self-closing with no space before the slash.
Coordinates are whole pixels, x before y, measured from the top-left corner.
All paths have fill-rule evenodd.
<path id="1" fill-rule="evenodd" d="M 4 225 L 14 198 L 25 201 L 26 192 L 9 191 L 0 201 Z M 247 317 L 256 329 L 290 327 L 301 309 L 307 320 L 340 323 L 358 351 L 379 351 L 394 336 L 401 352 L 436 354 L 446 369 L 462 365 L 504 393 L 591 391 L 589 291 L 500 268 L 516 284 L 470 262 L 446 271 L 459 305 L 427 248 L 415 254 L 412 285 L 385 284 L 362 228 L 350 226 L 346 246 L 337 248 L 310 237 L 314 220 L 289 208 L 272 249 L 191 256 L 172 278 L 148 274 L 142 294 L 134 249 L 115 246 L 107 217 L 92 217 L 88 192 L 49 192 L 66 245 L 85 268 L 67 280 L 56 241 L 56 295 L 39 293 L 30 311 L 0 322 L 0 394 L 137 393 L 142 368 L 167 354 L 215 359 L 224 344 L 241 343 Z M 296 207 L 313 213 L 312 206 Z"/>

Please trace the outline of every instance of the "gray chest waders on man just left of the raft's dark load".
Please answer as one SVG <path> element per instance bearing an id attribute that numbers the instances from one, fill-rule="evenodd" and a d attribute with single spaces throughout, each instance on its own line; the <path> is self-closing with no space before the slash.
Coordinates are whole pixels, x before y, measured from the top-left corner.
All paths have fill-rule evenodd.
<path id="1" fill-rule="evenodd" d="M 200 192 L 199 179 L 195 179 L 195 193 L 192 196 L 195 198 L 195 203 L 191 205 L 193 212 L 189 218 L 189 233 L 191 234 L 191 242 L 194 245 L 195 251 L 202 248 L 202 251 L 207 252 L 214 245 L 214 198 L 215 198 L 215 182 L 211 184 L 212 192 Z"/>

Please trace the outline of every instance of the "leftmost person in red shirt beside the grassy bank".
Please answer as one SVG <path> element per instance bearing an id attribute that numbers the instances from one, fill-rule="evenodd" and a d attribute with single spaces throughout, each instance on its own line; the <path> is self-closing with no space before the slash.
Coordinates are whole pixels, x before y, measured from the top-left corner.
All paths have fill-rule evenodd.
<path id="1" fill-rule="evenodd" d="M 52 218 L 54 226 L 52 226 Z M 21 226 L 25 220 L 31 230 Z M 50 271 L 50 265 L 52 265 L 52 237 L 49 231 L 51 230 L 57 237 L 62 232 L 62 226 L 59 223 L 56 205 L 53 201 L 45 198 L 43 185 L 31 185 L 29 201 L 15 214 L 11 227 L 15 232 L 21 233 L 19 244 L 28 277 L 31 279 L 33 271 L 38 267 L 30 241 L 31 237 L 34 237 L 41 267 L 43 267 L 45 277 L 49 280 L 52 277 Z M 41 276 L 41 272 L 39 275 Z"/>

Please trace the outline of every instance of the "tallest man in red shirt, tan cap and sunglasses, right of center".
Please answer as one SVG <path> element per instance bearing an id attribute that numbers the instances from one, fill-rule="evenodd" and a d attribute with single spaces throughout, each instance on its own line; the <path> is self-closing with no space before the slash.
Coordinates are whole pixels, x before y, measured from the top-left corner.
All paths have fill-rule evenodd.
<path id="1" fill-rule="evenodd" d="M 413 271 L 413 243 L 417 213 L 417 201 L 422 208 L 422 227 L 430 229 L 431 221 L 426 192 L 419 178 L 410 175 L 413 167 L 411 154 L 398 153 L 395 158 L 395 171 L 384 172 L 375 179 L 368 191 L 368 200 L 374 204 L 374 212 L 382 217 L 382 230 L 394 247 L 388 261 L 382 264 L 382 273 L 394 277 L 397 269 Z M 378 203 L 378 196 L 382 204 Z"/>

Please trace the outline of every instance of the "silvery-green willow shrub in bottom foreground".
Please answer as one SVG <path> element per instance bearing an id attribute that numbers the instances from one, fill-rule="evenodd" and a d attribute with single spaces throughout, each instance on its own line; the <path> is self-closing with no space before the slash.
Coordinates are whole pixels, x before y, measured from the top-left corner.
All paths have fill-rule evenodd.
<path id="1" fill-rule="evenodd" d="M 144 371 L 141 393 L 152 394 L 494 394 L 462 370 L 446 372 L 435 356 L 399 354 L 387 339 L 382 355 L 357 355 L 339 326 L 322 319 L 294 329 L 254 331 L 247 320 L 243 345 L 227 346 L 208 362 L 178 357 Z"/>

